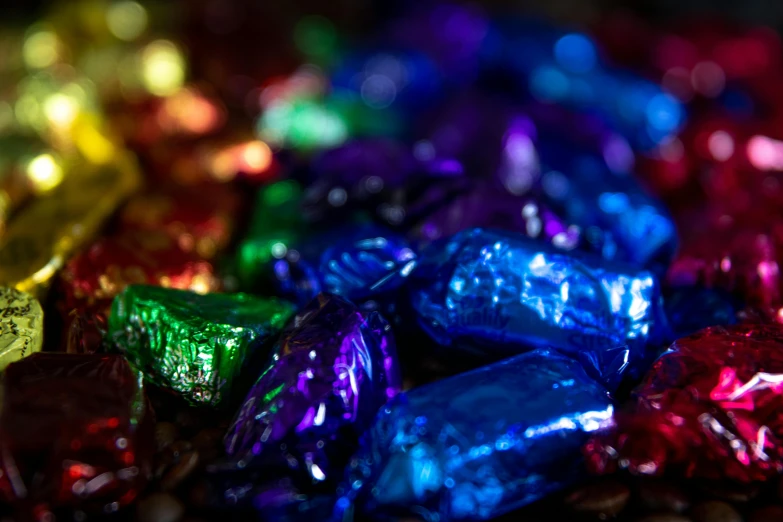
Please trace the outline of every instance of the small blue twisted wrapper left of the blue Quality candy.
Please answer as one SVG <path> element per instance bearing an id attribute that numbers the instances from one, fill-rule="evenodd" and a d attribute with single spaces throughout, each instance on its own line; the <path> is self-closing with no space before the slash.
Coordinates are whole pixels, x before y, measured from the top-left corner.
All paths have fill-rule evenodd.
<path id="1" fill-rule="evenodd" d="M 294 246 L 272 270 L 277 293 L 300 304 L 321 292 L 354 302 L 394 292 L 416 258 L 403 237 L 374 225 L 337 228 Z"/>

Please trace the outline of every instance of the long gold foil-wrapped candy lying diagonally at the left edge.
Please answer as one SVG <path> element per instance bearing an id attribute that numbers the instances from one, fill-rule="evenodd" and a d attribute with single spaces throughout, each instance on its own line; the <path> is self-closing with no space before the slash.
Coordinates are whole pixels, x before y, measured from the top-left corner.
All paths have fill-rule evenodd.
<path id="1" fill-rule="evenodd" d="M 61 185 L 11 220 L 0 238 L 0 284 L 41 297 L 139 183 L 135 163 L 122 153 L 111 164 L 73 166 Z"/>

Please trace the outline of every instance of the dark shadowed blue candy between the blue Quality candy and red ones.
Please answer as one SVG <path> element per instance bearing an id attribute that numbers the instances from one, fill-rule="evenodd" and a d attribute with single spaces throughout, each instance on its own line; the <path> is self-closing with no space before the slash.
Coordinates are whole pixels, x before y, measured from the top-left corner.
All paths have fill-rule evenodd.
<path id="1" fill-rule="evenodd" d="M 735 300 L 726 292 L 699 286 L 673 288 L 664 298 L 666 317 L 676 338 L 708 326 L 737 322 Z"/>

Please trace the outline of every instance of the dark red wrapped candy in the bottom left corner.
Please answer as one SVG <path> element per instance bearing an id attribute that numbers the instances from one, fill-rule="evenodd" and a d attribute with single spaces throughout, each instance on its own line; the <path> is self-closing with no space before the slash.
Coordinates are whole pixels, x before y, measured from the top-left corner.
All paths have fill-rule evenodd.
<path id="1" fill-rule="evenodd" d="M 113 513 L 151 476 L 153 424 L 141 376 L 121 355 L 15 362 L 3 375 L 0 499 L 20 520 Z"/>

